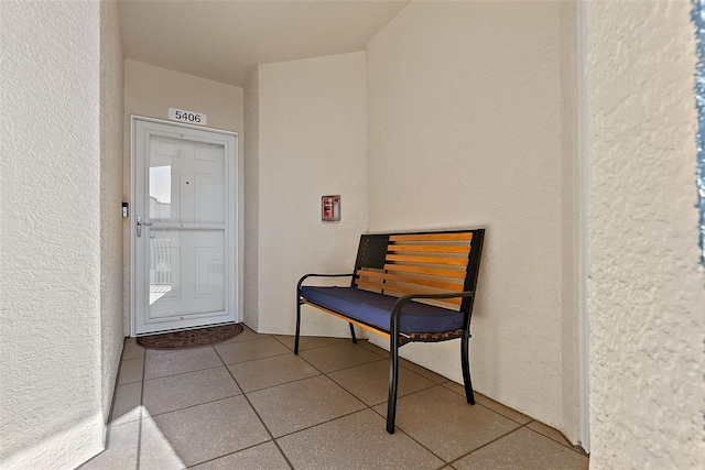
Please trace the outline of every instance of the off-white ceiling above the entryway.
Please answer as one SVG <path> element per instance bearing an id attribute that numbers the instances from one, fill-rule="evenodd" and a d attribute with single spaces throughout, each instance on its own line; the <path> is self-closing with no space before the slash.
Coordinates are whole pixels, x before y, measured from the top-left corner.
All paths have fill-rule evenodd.
<path id="1" fill-rule="evenodd" d="M 126 58 L 245 86 L 257 64 L 364 51 L 409 1 L 119 2 Z"/>

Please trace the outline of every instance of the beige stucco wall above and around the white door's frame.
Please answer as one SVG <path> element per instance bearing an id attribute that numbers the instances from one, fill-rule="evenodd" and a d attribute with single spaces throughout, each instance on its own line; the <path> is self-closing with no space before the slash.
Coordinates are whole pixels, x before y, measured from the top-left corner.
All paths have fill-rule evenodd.
<path id="1" fill-rule="evenodd" d="M 131 185 L 131 149 L 130 114 L 167 120 L 169 108 L 181 108 L 204 112 L 208 116 L 208 127 L 238 132 L 238 272 L 242 273 L 243 263 L 243 164 L 242 133 L 243 90 L 231 85 L 207 80 L 193 75 L 167 70 L 134 61 L 124 61 L 124 200 L 130 200 Z M 133 216 L 131 214 L 130 216 Z M 130 230 L 133 219 L 123 223 L 124 237 L 124 332 L 130 331 Z M 242 275 L 238 276 L 238 289 L 242 299 Z M 241 303 L 241 300 L 240 300 Z M 241 313 L 240 313 L 241 315 Z"/>

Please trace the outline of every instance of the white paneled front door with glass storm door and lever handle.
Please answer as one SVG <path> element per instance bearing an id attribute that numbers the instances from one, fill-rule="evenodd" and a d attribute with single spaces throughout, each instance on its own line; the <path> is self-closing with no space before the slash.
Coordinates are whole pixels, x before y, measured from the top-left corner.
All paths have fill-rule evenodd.
<path id="1" fill-rule="evenodd" d="M 132 119 L 137 335 L 236 321 L 237 135 Z"/>

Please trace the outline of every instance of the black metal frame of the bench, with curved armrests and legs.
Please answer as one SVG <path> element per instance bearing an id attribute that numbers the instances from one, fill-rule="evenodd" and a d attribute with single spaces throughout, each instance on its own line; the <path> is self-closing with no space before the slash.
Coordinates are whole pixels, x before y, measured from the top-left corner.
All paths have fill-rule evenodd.
<path id="1" fill-rule="evenodd" d="M 315 303 L 304 298 L 302 296 L 302 287 L 306 280 L 313 277 L 351 277 L 349 288 L 365 288 L 369 287 L 369 285 L 365 285 L 365 281 L 360 281 L 360 277 L 365 277 L 364 270 L 368 267 L 373 267 L 377 270 L 383 270 L 383 273 L 380 271 L 379 277 L 383 277 L 388 273 L 388 267 L 393 267 L 390 265 L 390 260 L 394 260 L 393 250 L 390 249 L 392 245 L 390 240 L 395 239 L 419 239 L 419 237 L 427 238 L 430 240 L 441 240 L 443 243 L 444 240 L 454 240 L 462 239 L 462 237 L 468 237 L 469 233 L 469 252 L 467 256 L 467 263 L 465 266 L 460 266 L 465 269 L 464 281 L 460 284 L 458 281 L 458 286 L 462 285 L 462 291 L 444 291 L 444 292 L 433 292 L 427 293 L 427 289 L 420 289 L 419 293 L 406 293 L 405 295 L 394 295 L 391 296 L 398 297 L 394 303 L 392 310 L 390 311 L 390 325 L 388 329 L 381 329 L 373 325 L 368 325 L 362 321 L 358 321 L 357 319 L 349 318 L 346 316 L 344 311 L 333 311 L 323 306 L 316 305 Z M 362 234 L 360 237 L 360 244 L 358 247 L 357 260 L 355 264 L 354 273 L 346 274 L 306 274 L 299 280 L 296 284 L 296 336 L 294 341 L 294 353 L 299 354 L 299 340 L 301 335 L 301 306 L 306 304 L 315 307 L 319 310 L 323 310 L 327 314 L 341 318 L 348 321 L 350 326 L 350 335 L 352 338 L 352 342 L 357 343 L 357 337 L 355 335 L 355 326 L 364 328 L 366 330 L 372 331 L 375 334 L 381 335 L 383 337 L 389 338 L 389 354 L 390 354 L 390 373 L 389 373 L 389 400 L 388 400 L 388 408 L 387 408 L 387 431 L 389 434 L 394 434 L 394 422 L 397 414 L 397 394 L 398 394 L 398 385 L 399 385 L 399 348 L 409 343 L 409 342 L 438 342 L 446 341 L 451 339 L 460 338 L 460 365 L 463 370 L 463 382 L 465 385 L 465 396 L 467 403 L 474 405 L 475 404 L 475 395 L 473 392 L 473 382 L 470 380 L 470 365 L 469 365 L 469 339 L 470 339 L 470 318 L 473 314 L 473 304 L 475 300 L 475 291 L 477 287 L 477 277 L 480 265 L 480 255 L 482 251 L 482 242 L 485 238 L 485 229 L 474 229 L 474 230 L 452 230 L 452 231 L 433 231 L 433 232 L 413 232 L 413 233 L 377 233 L 377 234 Z M 424 243 L 424 242 L 422 242 Z M 426 243 L 434 243 L 433 241 Z M 400 256 L 397 254 L 397 259 Z M 402 253 L 403 254 L 403 253 Z M 437 254 L 437 253 L 436 253 Z M 389 256 L 389 258 L 388 258 Z M 405 259 L 408 259 L 406 256 Z M 413 256 L 412 256 L 413 258 Z M 404 259 L 402 256 L 402 259 Z M 442 258 L 438 258 L 442 260 Z M 443 259 L 446 260 L 446 259 Z M 453 260 L 454 264 L 458 264 L 457 260 L 459 258 L 455 258 Z M 391 261 L 393 263 L 393 261 Z M 438 264 L 443 264 L 442 262 L 434 263 L 437 267 Z M 458 269 L 454 266 L 454 269 Z M 430 270 L 430 271 L 442 271 L 442 270 Z M 458 277 L 458 276 L 456 276 Z M 386 287 L 384 283 L 387 280 L 381 281 L 381 293 L 384 295 L 390 295 L 384 292 Z M 369 288 L 368 288 L 369 289 Z M 392 292 L 399 292 L 399 289 L 391 288 Z M 404 291 L 404 289 L 401 289 Z M 426 291 L 426 292 L 424 292 Z M 437 291 L 437 289 L 435 289 Z M 463 328 L 454 330 L 454 331 L 443 331 L 443 332 L 432 332 L 432 334 L 411 334 L 405 335 L 400 331 L 401 325 L 401 313 L 409 302 L 413 302 L 416 299 L 429 300 L 449 300 L 458 303 L 459 306 L 455 308 L 456 311 L 463 311 Z"/>

